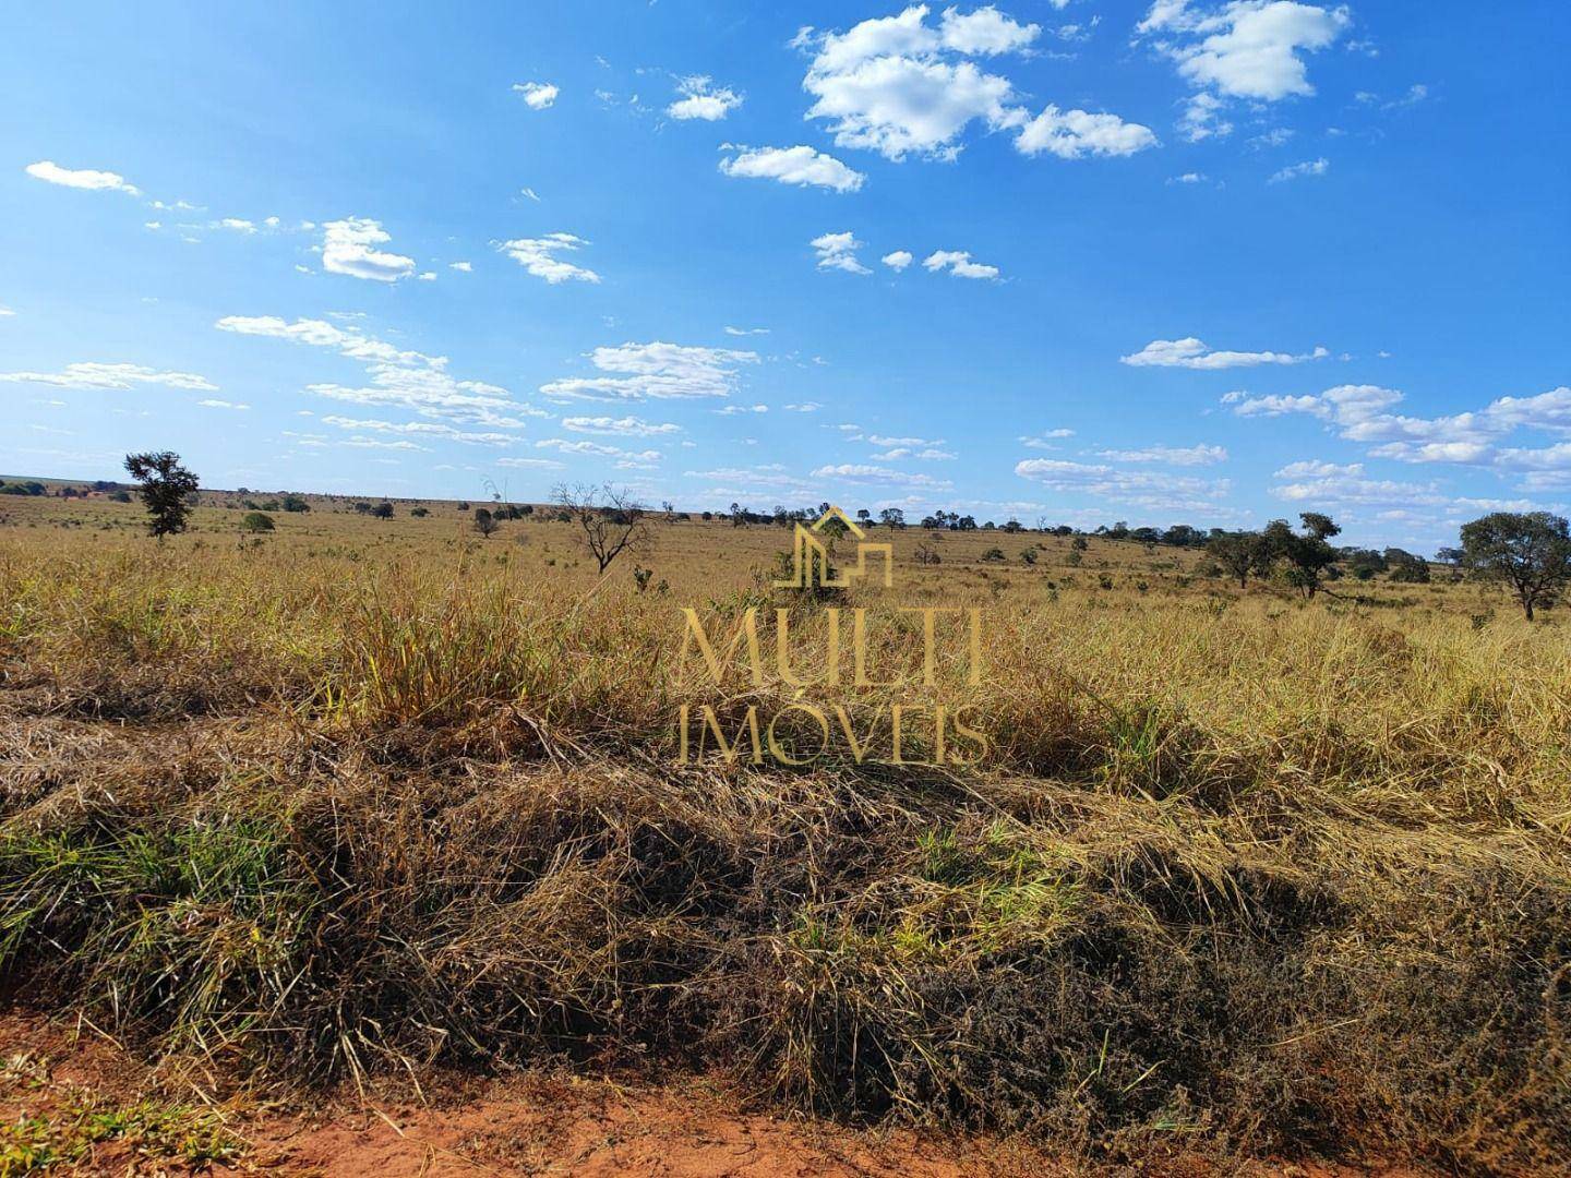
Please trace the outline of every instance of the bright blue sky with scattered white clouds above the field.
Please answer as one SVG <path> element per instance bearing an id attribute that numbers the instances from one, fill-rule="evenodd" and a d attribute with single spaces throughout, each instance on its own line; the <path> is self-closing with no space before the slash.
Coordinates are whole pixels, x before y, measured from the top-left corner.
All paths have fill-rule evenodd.
<path id="1" fill-rule="evenodd" d="M 0 470 L 1571 503 L 1558 0 L 13 6 Z"/>

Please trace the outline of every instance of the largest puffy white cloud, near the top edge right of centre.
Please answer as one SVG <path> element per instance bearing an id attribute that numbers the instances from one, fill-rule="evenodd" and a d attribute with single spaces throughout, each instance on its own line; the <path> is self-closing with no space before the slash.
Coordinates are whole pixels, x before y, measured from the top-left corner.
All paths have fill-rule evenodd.
<path id="1" fill-rule="evenodd" d="M 1148 129 L 1115 115 L 1048 107 L 1032 118 L 1009 79 L 972 60 L 1029 49 L 1040 25 L 991 5 L 969 14 L 949 8 L 936 25 L 928 14 L 927 5 L 911 5 L 844 33 L 798 33 L 793 44 L 814 53 L 803 79 L 814 97 L 807 118 L 825 119 L 839 146 L 891 160 L 952 160 L 972 124 L 1016 132 L 1015 146 L 1027 155 L 1126 155 L 1155 146 Z"/>

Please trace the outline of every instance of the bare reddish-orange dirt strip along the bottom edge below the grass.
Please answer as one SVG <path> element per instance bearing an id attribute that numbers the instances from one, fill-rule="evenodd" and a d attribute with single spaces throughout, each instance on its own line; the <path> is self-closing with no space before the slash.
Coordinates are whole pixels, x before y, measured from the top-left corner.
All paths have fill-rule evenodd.
<path id="1" fill-rule="evenodd" d="M 156 1096 L 201 1106 L 201 1076 L 148 1068 L 88 1026 L 36 1015 L 0 1015 L 0 1055 L 46 1062 L 49 1082 L 0 1084 L 0 1123 L 50 1115 L 61 1093 L 132 1103 Z M 682 1084 L 522 1074 L 495 1081 L 427 1079 L 421 1103 L 349 1090 L 306 1110 L 236 1098 L 222 1106 L 229 1131 L 248 1143 L 242 1159 L 217 1173 L 286 1173 L 324 1178 L 404 1175 L 660 1175 L 661 1178 L 952 1178 L 958 1175 L 1141 1173 L 1172 1178 L 1419 1178 L 1404 1167 L 1318 1164 L 1221 1164 L 1180 1156 L 1141 1167 L 1087 1167 L 1009 1137 L 954 1137 L 911 1131 L 861 1131 L 809 1118 L 742 1112 L 734 1095 L 701 1079 Z M 415 1098 L 410 1098 L 415 1096 Z M 79 1173 L 185 1173 L 170 1159 L 138 1158 L 123 1147 L 94 1147 Z"/>

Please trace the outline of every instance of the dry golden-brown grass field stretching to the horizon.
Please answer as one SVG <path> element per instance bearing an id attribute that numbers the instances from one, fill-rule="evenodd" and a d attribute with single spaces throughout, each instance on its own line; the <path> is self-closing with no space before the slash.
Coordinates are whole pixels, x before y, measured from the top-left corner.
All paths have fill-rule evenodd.
<path id="1" fill-rule="evenodd" d="M 894 587 L 836 603 L 873 661 L 921 663 L 902 606 L 976 608 L 983 674 L 858 688 L 768 586 L 789 531 L 658 521 L 602 580 L 570 523 L 350 503 L 248 536 L 204 493 L 154 543 L 132 504 L 0 501 L 14 999 L 303 1087 L 566 1059 L 1087 1162 L 1571 1156 L 1560 613 L 878 529 Z M 679 658 L 685 606 L 749 605 L 806 686 Z M 985 759 L 674 763 L 682 704 L 803 737 L 790 704 L 939 696 Z"/>

